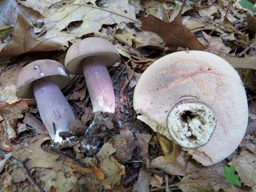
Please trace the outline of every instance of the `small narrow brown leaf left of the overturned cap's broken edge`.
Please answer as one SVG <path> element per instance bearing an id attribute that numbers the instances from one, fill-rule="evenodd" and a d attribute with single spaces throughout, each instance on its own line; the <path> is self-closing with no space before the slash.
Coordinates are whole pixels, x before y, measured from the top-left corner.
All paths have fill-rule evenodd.
<path id="1" fill-rule="evenodd" d="M 144 158 L 148 155 L 148 143 L 152 138 L 151 134 L 144 134 L 144 133 L 135 133 L 139 148 L 140 148 L 140 157 Z"/>

